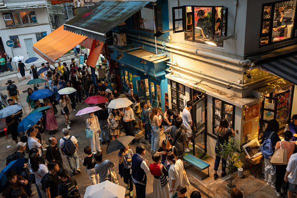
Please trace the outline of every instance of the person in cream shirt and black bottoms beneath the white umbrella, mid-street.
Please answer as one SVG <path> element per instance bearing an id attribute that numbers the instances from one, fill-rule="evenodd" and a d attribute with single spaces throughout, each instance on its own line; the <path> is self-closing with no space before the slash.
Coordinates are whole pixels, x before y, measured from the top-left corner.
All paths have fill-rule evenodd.
<path id="1" fill-rule="evenodd" d="M 120 112 L 123 120 L 124 130 L 126 135 L 135 136 L 133 132 L 133 121 L 135 120 L 134 112 L 130 106 L 123 108 Z M 136 142 L 135 139 L 132 140 L 131 145 Z"/>

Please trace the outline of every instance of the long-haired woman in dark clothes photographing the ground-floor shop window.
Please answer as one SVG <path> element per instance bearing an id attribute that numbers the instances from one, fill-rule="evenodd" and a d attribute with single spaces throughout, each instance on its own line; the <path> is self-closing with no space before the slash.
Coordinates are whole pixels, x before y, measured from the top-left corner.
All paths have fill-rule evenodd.
<path id="1" fill-rule="evenodd" d="M 230 128 L 228 128 L 230 126 Z M 215 161 L 214 161 L 214 174 L 213 177 L 217 178 L 218 174 L 216 173 L 219 165 L 219 161 L 221 156 L 217 155 L 219 149 L 221 148 L 221 145 L 224 142 L 229 141 L 229 136 L 234 135 L 234 130 L 231 127 L 231 124 L 227 121 L 226 118 L 222 118 L 219 122 L 219 126 L 215 128 L 215 133 L 216 133 L 216 144 L 215 144 Z M 221 176 L 226 175 L 226 161 L 222 158 L 221 159 Z"/>

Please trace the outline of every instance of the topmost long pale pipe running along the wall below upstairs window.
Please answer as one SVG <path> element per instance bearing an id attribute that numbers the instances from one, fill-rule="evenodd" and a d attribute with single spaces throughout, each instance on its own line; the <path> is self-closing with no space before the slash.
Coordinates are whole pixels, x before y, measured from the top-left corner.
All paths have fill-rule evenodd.
<path id="1" fill-rule="evenodd" d="M 134 38 L 138 38 L 139 40 L 142 39 L 142 40 L 146 40 L 146 41 L 150 41 L 150 42 L 155 42 L 154 39 L 147 38 L 147 37 L 144 37 L 144 36 L 141 36 L 141 35 L 135 35 L 135 34 L 132 34 L 132 33 L 127 33 L 127 35 L 131 36 L 131 37 L 134 37 Z M 183 46 L 179 46 L 179 45 L 175 45 L 175 44 L 170 44 L 170 43 L 165 42 L 165 41 L 157 40 L 156 43 L 160 44 L 160 45 L 163 45 L 163 46 L 167 46 L 167 47 L 179 49 L 179 50 L 182 50 L 182 51 L 190 52 L 190 53 L 193 53 L 193 54 L 196 54 L 196 55 L 204 55 L 204 56 L 209 56 L 209 57 L 212 57 L 212 58 L 232 62 L 232 63 L 238 64 L 238 65 L 249 65 L 249 64 L 251 64 L 250 59 L 242 60 L 242 59 L 226 57 L 226 56 L 223 56 L 223 55 L 217 55 L 217 54 L 213 54 L 213 53 L 210 53 L 210 52 L 201 51 L 199 49 L 191 49 L 191 48 L 188 48 L 188 47 L 183 47 Z M 235 70 L 237 70 L 237 69 L 235 69 Z"/>

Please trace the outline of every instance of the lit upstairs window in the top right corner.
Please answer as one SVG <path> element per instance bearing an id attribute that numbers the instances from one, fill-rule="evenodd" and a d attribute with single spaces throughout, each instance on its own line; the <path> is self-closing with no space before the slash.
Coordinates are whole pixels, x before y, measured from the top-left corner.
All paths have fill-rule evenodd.
<path id="1" fill-rule="evenodd" d="M 293 31 L 295 9 L 296 0 L 263 4 L 260 46 L 269 45 L 297 36 L 297 33 Z"/>

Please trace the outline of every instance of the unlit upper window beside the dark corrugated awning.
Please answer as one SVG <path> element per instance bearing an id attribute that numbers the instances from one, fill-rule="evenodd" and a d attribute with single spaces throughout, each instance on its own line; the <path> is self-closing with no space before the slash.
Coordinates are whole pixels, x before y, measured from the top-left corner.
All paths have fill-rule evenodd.
<path id="1" fill-rule="evenodd" d="M 132 15 L 133 28 L 154 31 L 162 30 L 161 6 L 146 5 Z M 155 25 L 155 27 L 154 27 Z"/>

